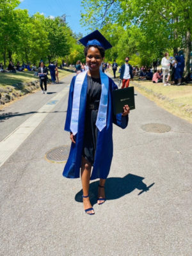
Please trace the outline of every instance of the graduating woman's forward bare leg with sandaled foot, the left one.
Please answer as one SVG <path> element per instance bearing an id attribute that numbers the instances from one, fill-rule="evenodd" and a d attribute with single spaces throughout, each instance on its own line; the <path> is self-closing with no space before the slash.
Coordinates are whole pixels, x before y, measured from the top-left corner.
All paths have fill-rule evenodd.
<path id="1" fill-rule="evenodd" d="M 92 170 L 92 165 L 84 157 L 82 157 L 81 182 L 82 182 L 84 196 L 89 195 L 91 170 Z M 84 210 L 92 208 L 92 204 L 90 203 L 89 197 L 83 198 L 83 206 L 84 206 Z M 87 213 L 88 214 L 94 213 L 94 211 L 93 210 L 88 211 Z"/>

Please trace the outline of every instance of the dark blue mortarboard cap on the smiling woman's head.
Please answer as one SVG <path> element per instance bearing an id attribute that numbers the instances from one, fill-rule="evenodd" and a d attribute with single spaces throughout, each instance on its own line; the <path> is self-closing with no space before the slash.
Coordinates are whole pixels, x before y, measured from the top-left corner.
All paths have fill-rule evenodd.
<path id="1" fill-rule="evenodd" d="M 99 45 L 104 47 L 105 50 L 112 47 L 112 45 L 104 38 L 104 36 L 99 32 L 99 30 L 95 30 L 87 36 L 84 36 L 79 40 L 81 44 L 84 46 L 88 45 Z"/>

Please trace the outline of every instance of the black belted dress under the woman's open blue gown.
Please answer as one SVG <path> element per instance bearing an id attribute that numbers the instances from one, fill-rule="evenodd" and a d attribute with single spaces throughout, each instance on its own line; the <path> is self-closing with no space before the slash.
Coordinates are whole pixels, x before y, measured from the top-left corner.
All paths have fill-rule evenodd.
<path id="1" fill-rule="evenodd" d="M 97 147 L 98 129 L 95 124 L 101 95 L 101 81 L 100 78 L 87 77 L 88 87 L 86 92 L 83 157 L 93 165 Z M 94 104 L 95 109 L 90 109 L 90 104 Z"/>

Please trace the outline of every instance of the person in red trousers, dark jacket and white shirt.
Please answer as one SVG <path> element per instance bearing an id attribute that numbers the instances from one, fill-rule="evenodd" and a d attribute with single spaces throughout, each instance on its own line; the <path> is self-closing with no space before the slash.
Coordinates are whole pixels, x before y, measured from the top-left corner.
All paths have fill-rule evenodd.
<path id="1" fill-rule="evenodd" d="M 132 66 L 128 63 L 129 57 L 125 58 L 125 63 L 121 67 L 120 79 L 122 79 L 122 88 L 129 87 L 129 81 L 132 79 Z"/>

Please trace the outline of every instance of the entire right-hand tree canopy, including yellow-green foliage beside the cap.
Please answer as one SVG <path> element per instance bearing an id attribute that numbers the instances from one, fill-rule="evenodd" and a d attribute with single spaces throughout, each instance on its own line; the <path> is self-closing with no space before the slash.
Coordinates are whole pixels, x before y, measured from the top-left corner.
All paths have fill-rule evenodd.
<path id="1" fill-rule="evenodd" d="M 109 58 L 118 54 L 124 60 L 125 52 L 131 56 L 138 53 L 140 62 L 146 63 L 161 58 L 164 51 L 184 49 L 189 71 L 191 0 L 83 0 L 82 3 L 84 26 L 101 29 L 108 38 L 115 33 L 115 41 L 113 36 L 110 41 L 115 49 L 109 50 Z"/>

